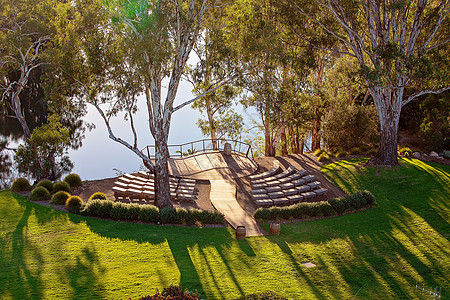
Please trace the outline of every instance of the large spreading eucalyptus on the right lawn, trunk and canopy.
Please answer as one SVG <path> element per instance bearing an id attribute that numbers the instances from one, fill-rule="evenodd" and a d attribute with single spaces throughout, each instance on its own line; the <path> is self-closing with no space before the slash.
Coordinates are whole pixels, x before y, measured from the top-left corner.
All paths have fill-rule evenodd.
<path id="1" fill-rule="evenodd" d="M 450 4 L 442 1 L 274 0 L 299 43 L 349 55 L 375 102 L 381 129 L 375 163 L 396 165 L 402 106 L 449 90 Z M 320 38 L 322 37 L 322 38 Z M 330 43 L 321 44 L 321 39 Z"/>

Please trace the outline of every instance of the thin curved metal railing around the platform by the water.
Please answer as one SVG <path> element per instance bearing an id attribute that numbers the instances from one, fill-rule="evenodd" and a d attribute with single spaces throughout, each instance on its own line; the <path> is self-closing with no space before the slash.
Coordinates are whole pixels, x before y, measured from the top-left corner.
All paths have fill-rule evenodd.
<path id="1" fill-rule="evenodd" d="M 231 145 L 232 152 L 253 158 L 252 145 L 236 140 L 220 139 L 213 141 L 212 139 L 203 139 L 184 144 L 167 145 L 167 147 L 170 157 L 183 157 L 203 152 L 224 151 L 226 143 Z M 155 149 L 155 145 L 147 145 L 142 148 L 141 152 L 152 158 L 155 157 Z"/>

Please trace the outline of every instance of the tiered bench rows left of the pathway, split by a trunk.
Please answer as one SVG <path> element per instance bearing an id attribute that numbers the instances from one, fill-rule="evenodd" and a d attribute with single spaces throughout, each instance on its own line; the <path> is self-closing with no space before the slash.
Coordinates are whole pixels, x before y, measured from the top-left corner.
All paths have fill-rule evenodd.
<path id="1" fill-rule="evenodd" d="M 189 178 L 169 177 L 170 196 L 172 200 L 195 200 L 195 180 Z M 124 174 L 118 178 L 112 188 L 117 201 L 130 199 L 154 201 L 155 178 L 153 174 L 138 172 L 137 175 Z"/>

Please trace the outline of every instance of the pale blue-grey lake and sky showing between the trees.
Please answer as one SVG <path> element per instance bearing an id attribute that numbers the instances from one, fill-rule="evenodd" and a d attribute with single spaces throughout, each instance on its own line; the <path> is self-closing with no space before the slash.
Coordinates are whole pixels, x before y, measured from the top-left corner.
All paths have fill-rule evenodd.
<path id="1" fill-rule="evenodd" d="M 163 84 L 164 86 L 164 84 Z M 192 95 L 192 85 L 186 81 L 180 82 L 175 106 L 181 104 L 194 96 Z M 153 138 L 148 127 L 148 113 L 145 104 L 145 96 L 139 98 L 139 111 L 135 116 L 136 130 L 138 133 L 138 146 L 140 149 L 146 145 L 153 145 Z M 244 111 L 237 106 L 236 110 L 244 117 L 245 128 L 250 128 L 251 119 L 257 119 L 256 111 L 250 109 Z M 169 132 L 169 145 L 182 144 L 195 140 L 200 140 L 202 136 L 196 122 L 201 117 L 200 112 L 190 106 L 176 111 L 172 115 L 172 122 Z M 69 152 L 70 159 L 74 162 L 73 173 L 77 173 L 83 180 L 93 180 L 117 176 L 119 172 L 133 172 L 140 169 L 141 159 L 131 150 L 123 145 L 111 140 L 108 131 L 97 110 L 90 105 L 85 121 L 95 124 L 95 129 L 87 131 L 83 146 L 78 150 Z M 111 122 L 111 127 L 117 137 L 132 142 L 132 133 L 129 123 L 123 119 L 123 115 L 116 117 Z M 251 135 L 256 132 L 252 130 Z"/>

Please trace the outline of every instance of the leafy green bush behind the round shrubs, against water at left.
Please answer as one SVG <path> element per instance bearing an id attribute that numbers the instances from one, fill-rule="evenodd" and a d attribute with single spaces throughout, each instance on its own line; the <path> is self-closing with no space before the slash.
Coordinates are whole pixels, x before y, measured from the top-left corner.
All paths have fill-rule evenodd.
<path id="1" fill-rule="evenodd" d="M 73 168 L 67 156 L 69 130 L 61 125 L 57 115 L 48 116 L 47 121 L 33 130 L 25 144 L 19 145 L 15 160 L 20 173 L 55 180 Z"/>

